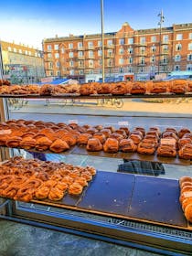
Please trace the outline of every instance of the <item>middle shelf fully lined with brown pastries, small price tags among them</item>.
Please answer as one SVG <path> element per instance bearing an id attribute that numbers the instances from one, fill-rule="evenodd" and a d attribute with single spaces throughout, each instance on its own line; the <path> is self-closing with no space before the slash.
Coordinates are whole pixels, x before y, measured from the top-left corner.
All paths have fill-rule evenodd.
<path id="1" fill-rule="evenodd" d="M 29 152 L 94 155 L 171 165 L 191 165 L 188 128 L 91 126 L 77 123 L 9 120 L 0 123 L 0 145 Z"/>

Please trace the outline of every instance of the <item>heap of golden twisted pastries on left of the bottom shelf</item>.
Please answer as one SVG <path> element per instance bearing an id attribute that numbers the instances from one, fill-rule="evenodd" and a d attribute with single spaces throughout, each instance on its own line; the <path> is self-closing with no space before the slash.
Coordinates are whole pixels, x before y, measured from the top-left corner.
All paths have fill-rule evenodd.
<path id="1" fill-rule="evenodd" d="M 96 170 L 65 163 L 14 157 L 0 165 L 0 197 L 29 202 L 61 200 L 67 193 L 80 195 Z"/>

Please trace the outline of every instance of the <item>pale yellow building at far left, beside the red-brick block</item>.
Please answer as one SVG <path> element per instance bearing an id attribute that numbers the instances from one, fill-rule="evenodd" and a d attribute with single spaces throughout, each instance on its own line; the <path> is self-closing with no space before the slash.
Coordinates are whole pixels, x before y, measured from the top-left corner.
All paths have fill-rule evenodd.
<path id="1" fill-rule="evenodd" d="M 14 42 L 0 44 L 5 79 L 12 83 L 34 83 L 45 77 L 42 50 Z"/>

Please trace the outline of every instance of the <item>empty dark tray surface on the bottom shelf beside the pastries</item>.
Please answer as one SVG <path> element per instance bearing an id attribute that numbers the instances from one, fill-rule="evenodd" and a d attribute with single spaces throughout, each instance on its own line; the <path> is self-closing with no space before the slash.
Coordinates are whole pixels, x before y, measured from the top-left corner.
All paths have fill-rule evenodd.
<path id="1" fill-rule="evenodd" d="M 33 202 L 189 230 L 179 193 L 178 180 L 98 171 L 78 197 Z"/>

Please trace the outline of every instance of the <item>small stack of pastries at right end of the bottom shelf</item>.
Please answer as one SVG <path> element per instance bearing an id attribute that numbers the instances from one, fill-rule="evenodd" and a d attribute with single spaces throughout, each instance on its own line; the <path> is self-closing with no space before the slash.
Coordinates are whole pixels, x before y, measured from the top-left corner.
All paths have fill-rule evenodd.
<path id="1" fill-rule="evenodd" d="M 192 222 L 192 177 L 182 176 L 179 179 L 180 197 L 182 209 L 186 219 Z"/>

